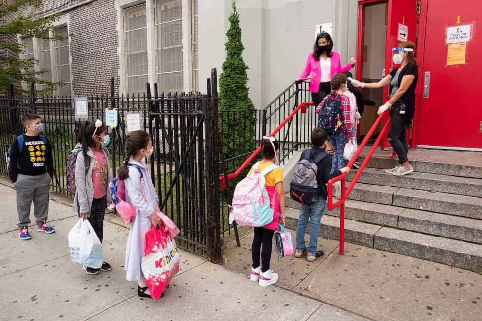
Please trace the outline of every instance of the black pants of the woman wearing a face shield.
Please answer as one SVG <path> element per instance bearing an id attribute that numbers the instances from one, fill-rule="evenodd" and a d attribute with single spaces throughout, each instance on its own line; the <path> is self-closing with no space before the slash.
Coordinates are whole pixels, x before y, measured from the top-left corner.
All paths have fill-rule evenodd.
<path id="1" fill-rule="evenodd" d="M 408 161 L 408 142 L 407 142 L 407 123 L 404 119 L 404 114 L 400 114 L 400 107 L 394 106 L 392 109 L 392 123 L 388 130 L 388 141 L 392 145 L 393 150 L 398 156 L 398 163 L 405 163 Z"/>

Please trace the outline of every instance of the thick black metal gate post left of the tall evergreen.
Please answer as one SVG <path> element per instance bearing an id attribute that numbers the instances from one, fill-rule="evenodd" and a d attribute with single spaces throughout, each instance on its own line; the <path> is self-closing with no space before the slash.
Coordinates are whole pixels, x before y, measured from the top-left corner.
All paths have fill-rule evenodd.
<path id="1" fill-rule="evenodd" d="M 204 128 L 206 145 L 206 209 L 207 209 L 207 249 L 210 260 L 221 261 L 221 225 L 220 225 L 220 191 L 219 191 L 219 151 L 216 144 L 215 130 L 218 121 L 218 93 L 216 69 L 211 70 L 211 85 L 208 85 L 204 106 Z M 211 88 L 209 88 L 211 87 Z M 210 90 L 209 90 L 210 89 Z M 212 95 L 211 91 L 212 90 Z"/>

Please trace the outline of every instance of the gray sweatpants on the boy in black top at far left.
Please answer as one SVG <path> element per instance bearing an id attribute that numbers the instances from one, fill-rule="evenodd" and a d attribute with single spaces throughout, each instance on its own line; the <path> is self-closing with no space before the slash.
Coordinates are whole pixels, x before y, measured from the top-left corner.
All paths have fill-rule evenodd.
<path id="1" fill-rule="evenodd" d="M 34 201 L 34 215 L 37 225 L 47 220 L 49 212 L 49 173 L 39 176 L 19 174 L 15 183 L 17 190 L 18 228 L 30 224 L 30 205 Z"/>

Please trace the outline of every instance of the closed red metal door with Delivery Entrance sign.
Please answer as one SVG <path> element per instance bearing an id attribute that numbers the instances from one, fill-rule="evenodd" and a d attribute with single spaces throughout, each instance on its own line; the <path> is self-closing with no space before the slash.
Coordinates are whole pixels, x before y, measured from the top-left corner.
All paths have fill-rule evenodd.
<path id="1" fill-rule="evenodd" d="M 481 12 L 480 0 L 422 1 L 419 147 L 482 148 L 482 33 L 476 30 Z M 454 41 L 463 42 L 447 44 Z M 427 72 L 430 83 L 425 87 Z"/>

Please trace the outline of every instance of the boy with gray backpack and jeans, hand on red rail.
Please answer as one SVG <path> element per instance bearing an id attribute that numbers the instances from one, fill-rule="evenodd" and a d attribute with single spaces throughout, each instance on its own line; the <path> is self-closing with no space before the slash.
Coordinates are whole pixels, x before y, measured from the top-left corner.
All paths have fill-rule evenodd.
<path id="1" fill-rule="evenodd" d="M 317 251 L 320 224 L 325 203 L 327 202 L 328 180 L 350 169 L 343 167 L 331 172 L 331 156 L 325 152 L 328 144 L 328 132 L 317 127 L 311 132 L 311 149 L 303 151 L 296 165 L 293 180 L 290 183 L 290 197 L 301 203 L 298 226 L 296 228 L 296 251 L 294 256 L 301 258 L 305 247 L 305 232 L 310 219 L 310 241 L 308 243 L 307 261 L 313 262 L 324 255 Z"/>

